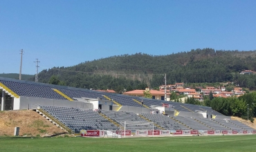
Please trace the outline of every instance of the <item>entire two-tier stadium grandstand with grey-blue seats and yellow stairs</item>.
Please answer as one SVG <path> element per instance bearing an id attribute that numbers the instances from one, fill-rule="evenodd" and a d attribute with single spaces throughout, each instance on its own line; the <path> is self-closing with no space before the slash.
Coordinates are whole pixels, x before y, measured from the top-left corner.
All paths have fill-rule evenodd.
<path id="1" fill-rule="evenodd" d="M 0 89 L 1 111 L 33 109 L 70 133 L 79 133 L 81 130 L 122 130 L 123 122 L 145 122 L 143 125 L 127 125 L 126 129 L 130 131 L 151 130 L 152 126 L 147 124 L 150 122 L 154 124 L 154 130 L 159 131 L 255 132 L 250 126 L 231 120 L 208 106 L 3 77 L 0 77 Z M 11 99 L 6 99 L 6 95 Z"/>

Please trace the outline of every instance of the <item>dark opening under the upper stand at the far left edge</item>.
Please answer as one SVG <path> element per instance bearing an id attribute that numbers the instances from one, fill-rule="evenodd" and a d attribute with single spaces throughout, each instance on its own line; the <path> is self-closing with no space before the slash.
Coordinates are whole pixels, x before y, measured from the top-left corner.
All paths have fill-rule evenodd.
<path id="1" fill-rule="evenodd" d="M 1 111 L 10 111 L 13 110 L 13 101 L 14 97 L 11 97 L 6 93 L 6 91 L 3 91 L 3 89 L 0 89 L 0 108 Z"/>

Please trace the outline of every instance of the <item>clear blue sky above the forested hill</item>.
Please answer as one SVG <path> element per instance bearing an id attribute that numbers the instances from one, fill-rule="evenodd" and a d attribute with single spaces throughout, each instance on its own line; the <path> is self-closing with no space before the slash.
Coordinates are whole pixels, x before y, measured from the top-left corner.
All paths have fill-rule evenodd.
<path id="1" fill-rule="evenodd" d="M 256 50 L 256 1 L 1 0 L 0 73 L 113 55 Z"/>

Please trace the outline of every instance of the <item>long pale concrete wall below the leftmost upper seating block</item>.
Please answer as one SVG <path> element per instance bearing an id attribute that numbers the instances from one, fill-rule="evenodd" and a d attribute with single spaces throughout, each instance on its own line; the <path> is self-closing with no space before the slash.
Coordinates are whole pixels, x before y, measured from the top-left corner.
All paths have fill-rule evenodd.
<path id="1" fill-rule="evenodd" d="M 37 97 L 20 97 L 19 109 L 37 108 L 38 105 L 44 106 L 64 106 L 73 108 L 91 108 L 93 109 L 93 104 L 84 102 L 70 102 L 60 99 L 43 99 Z M 17 110 L 17 109 L 14 109 Z"/>

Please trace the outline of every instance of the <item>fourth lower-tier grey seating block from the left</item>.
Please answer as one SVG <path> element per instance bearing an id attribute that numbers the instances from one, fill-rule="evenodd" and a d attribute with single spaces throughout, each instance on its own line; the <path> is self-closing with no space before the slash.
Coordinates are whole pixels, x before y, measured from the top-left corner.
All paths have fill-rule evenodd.
<path id="1" fill-rule="evenodd" d="M 174 117 L 174 119 L 179 120 L 180 122 L 183 122 L 183 124 L 186 124 L 191 129 L 194 129 L 194 130 L 209 130 L 210 129 L 208 126 L 205 126 L 205 125 L 201 124 L 200 122 L 197 122 L 196 120 L 194 120 L 193 117 L 177 116 L 177 117 Z"/>

